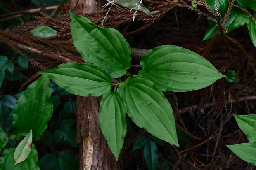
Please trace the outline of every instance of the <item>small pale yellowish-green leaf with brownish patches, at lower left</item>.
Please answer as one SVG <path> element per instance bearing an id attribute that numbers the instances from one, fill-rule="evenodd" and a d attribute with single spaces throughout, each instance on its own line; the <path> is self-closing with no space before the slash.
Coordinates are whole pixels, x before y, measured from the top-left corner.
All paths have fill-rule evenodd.
<path id="1" fill-rule="evenodd" d="M 29 131 L 28 135 L 18 144 L 14 152 L 15 165 L 24 161 L 30 154 L 32 147 L 32 130 Z"/>

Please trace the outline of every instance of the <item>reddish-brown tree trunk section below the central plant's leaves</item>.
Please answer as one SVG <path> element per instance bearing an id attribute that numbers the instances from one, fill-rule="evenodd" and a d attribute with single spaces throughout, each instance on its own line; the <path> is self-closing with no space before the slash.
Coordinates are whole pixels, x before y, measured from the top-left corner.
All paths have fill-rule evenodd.
<path id="1" fill-rule="evenodd" d="M 77 142 L 81 170 L 119 170 L 116 158 L 111 153 L 101 133 L 98 119 L 101 97 L 77 96 Z"/>

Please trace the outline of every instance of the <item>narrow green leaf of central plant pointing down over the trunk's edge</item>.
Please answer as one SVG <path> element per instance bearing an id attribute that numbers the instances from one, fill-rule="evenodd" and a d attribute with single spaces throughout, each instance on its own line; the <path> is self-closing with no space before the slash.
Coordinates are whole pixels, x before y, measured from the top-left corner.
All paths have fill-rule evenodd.
<path id="1" fill-rule="evenodd" d="M 126 135 L 126 105 L 118 92 L 106 93 L 99 110 L 100 128 L 110 150 L 118 160 Z"/>

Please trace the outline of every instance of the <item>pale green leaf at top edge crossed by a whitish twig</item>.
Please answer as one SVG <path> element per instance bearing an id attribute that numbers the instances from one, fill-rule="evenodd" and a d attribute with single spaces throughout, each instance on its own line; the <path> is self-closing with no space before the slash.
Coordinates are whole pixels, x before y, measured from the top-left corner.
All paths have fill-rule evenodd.
<path id="1" fill-rule="evenodd" d="M 139 7 L 140 0 L 116 0 L 115 3 L 118 5 L 122 5 L 123 7 L 135 10 Z M 138 8 L 138 10 L 148 15 L 151 15 L 151 12 L 149 11 L 149 9 L 147 9 L 143 4 L 140 4 L 140 7 Z"/>

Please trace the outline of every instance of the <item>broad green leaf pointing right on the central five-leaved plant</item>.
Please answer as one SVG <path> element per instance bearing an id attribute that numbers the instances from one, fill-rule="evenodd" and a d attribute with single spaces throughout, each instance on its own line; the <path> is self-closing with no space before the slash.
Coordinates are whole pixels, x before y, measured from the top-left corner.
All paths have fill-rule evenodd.
<path id="1" fill-rule="evenodd" d="M 225 77 L 202 56 L 174 45 L 159 46 L 142 57 L 139 75 L 162 91 L 184 92 L 209 86 Z"/>

